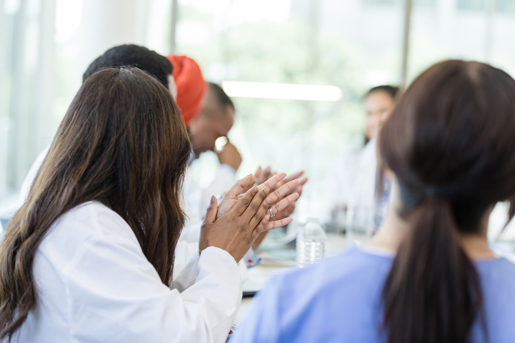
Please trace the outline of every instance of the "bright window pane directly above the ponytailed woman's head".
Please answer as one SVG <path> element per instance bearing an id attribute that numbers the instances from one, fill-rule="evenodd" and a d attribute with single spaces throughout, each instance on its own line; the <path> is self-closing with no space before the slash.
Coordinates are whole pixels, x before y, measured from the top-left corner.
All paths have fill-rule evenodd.
<path id="1" fill-rule="evenodd" d="M 439 0 L 436 10 L 415 8 L 411 16 L 408 80 L 439 60 L 492 63 L 515 75 L 513 0 Z M 495 5 L 495 6 L 493 6 Z"/>

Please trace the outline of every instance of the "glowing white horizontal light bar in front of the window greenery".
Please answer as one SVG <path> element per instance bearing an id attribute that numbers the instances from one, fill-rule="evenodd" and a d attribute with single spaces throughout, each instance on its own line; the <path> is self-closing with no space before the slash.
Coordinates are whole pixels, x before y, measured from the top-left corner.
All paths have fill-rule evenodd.
<path id="1" fill-rule="evenodd" d="M 341 89 L 331 85 L 222 81 L 229 96 L 241 98 L 338 101 Z"/>

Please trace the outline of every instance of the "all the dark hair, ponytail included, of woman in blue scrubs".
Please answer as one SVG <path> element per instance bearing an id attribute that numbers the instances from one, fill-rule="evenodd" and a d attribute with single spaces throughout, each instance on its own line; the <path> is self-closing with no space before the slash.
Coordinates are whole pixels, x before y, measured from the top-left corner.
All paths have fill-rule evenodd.
<path id="1" fill-rule="evenodd" d="M 515 81 L 483 63 L 438 63 L 401 97 L 379 147 L 410 225 L 383 289 L 388 342 L 466 343 L 475 322 L 487 340 L 460 236 L 479 234 L 497 201 L 515 212 Z"/>

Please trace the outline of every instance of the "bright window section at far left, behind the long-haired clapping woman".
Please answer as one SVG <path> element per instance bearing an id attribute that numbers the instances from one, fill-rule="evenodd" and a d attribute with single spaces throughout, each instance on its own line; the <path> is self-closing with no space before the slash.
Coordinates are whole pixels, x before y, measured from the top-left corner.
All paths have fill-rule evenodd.
<path id="1" fill-rule="evenodd" d="M 171 49 L 170 0 L 0 1 L 0 216 L 52 140 L 85 68 L 109 47 Z"/>

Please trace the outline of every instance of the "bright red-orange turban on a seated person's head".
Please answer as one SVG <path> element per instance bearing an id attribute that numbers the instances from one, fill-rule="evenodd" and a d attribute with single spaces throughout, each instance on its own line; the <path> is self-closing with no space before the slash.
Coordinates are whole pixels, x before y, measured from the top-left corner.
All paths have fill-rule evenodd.
<path id="1" fill-rule="evenodd" d="M 182 55 L 169 55 L 168 60 L 174 65 L 172 75 L 177 85 L 177 105 L 182 111 L 186 126 L 200 111 L 205 94 L 205 81 L 200 66 L 193 59 Z"/>

